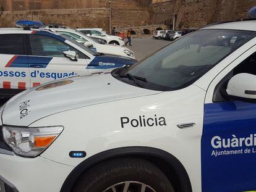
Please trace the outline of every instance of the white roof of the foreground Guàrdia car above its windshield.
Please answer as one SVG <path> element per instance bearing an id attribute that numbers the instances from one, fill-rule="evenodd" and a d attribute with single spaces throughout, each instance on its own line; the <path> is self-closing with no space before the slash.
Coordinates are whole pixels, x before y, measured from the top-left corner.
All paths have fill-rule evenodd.
<path id="1" fill-rule="evenodd" d="M 247 30 L 247 31 L 256 31 L 256 20 L 247 20 L 239 22 L 225 22 L 225 23 L 216 23 L 207 25 L 202 29 L 226 29 L 226 30 Z"/>

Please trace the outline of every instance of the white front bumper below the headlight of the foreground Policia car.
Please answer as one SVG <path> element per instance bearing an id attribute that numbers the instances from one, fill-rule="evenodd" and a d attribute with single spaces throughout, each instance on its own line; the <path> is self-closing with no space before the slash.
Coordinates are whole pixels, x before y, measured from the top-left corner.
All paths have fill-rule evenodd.
<path id="1" fill-rule="evenodd" d="M 58 192 L 73 169 L 43 157 L 0 154 L 0 192 Z"/>

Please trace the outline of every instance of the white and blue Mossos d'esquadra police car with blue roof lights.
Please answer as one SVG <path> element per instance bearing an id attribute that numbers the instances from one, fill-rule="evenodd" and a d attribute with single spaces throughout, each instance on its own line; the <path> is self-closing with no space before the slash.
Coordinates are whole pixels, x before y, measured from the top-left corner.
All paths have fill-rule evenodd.
<path id="1" fill-rule="evenodd" d="M 43 27 L 38 22 L 19 21 L 17 25 L 23 28 L 0 29 L 0 98 L 10 98 L 47 81 L 109 72 L 137 62 L 98 54 L 67 36 L 35 29 Z"/>

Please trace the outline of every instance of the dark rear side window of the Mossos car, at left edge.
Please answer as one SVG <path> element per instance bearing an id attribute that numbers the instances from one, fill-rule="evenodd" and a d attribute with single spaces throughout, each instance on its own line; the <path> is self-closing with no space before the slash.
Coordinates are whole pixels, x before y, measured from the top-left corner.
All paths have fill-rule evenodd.
<path id="1" fill-rule="evenodd" d="M 0 54 L 27 55 L 26 35 L 0 35 Z"/>

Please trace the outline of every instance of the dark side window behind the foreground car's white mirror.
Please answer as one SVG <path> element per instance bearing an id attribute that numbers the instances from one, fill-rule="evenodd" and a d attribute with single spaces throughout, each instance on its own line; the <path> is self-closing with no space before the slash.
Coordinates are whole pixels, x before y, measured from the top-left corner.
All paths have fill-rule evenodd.
<path id="1" fill-rule="evenodd" d="M 213 94 L 213 102 L 221 102 L 226 101 L 228 98 L 228 94 L 226 93 L 226 89 L 228 86 L 229 80 L 232 77 L 239 73 L 249 73 L 252 75 L 256 75 L 256 52 L 251 54 L 247 59 L 241 62 L 241 64 L 237 65 L 231 72 L 224 77 L 220 83 L 215 88 L 215 93 Z"/>

